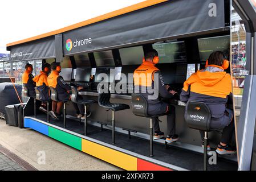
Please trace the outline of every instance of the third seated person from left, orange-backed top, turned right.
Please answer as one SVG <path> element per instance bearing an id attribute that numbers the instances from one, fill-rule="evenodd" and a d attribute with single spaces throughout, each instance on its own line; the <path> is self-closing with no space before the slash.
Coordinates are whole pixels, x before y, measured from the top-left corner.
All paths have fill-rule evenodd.
<path id="1" fill-rule="evenodd" d="M 47 78 L 48 86 L 53 87 L 57 90 L 58 99 L 59 100 L 71 100 L 71 86 L 68 85 L 64 80 L 63 77 L 59 75 L 61 72 L 61 67 L 59 63 L 52 63 L 51 64 L 51 73 Z M 83 89 L 82 86 L 76 88 L 78 90 Z M 80 96 L 82 97 L 82 96 Z M 83 98 L 80 98 L 83 99 Z M 79 115 L 80 113 L 84 113 L 84 106 L 82 104 L 75 104 L 72 102 L 75 107 L 76 114 Z M 52 101 L 52 110 L 50 111 L 50 116 L 53 119 L 58 120 L 60 117 L 60 110 L 62 109 L 63 102 L 55 102 Z"/>

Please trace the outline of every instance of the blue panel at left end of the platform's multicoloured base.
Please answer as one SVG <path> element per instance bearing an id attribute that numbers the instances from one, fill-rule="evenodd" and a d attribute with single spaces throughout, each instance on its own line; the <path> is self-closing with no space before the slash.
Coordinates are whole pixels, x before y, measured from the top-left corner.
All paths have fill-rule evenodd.
<path id="1" fill-rule="evenodd" d="M 48 136 L 48 126 L 38 121 L 35 121 L 34 119 L 25 118 L 24 126 Z"/>

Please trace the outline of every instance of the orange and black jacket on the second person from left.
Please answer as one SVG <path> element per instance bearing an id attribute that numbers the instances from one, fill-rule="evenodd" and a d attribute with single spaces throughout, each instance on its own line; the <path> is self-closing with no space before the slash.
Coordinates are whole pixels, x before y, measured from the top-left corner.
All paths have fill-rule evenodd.
<path id="1" fill-rule="evenodd" d="M 36 82 L 36 88 L 40 92 L 40 100 L 42 101 L 50 100 L 47 77 L 46 72 L 40 71 L 40 74 L 33 78 L 33 81 Z"/>

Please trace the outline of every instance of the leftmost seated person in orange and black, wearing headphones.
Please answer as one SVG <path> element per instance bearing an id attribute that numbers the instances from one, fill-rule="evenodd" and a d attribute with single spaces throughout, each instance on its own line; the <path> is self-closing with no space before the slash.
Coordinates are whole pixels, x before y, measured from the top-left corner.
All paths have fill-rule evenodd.
<path id="1" fill-rule="evenodd" d="M 35 82 L 33 81 L 34 76 L 32 75 L 33 66 L 27 63 L 25 65 L 25 72 L 22 75 L 23 85 L 29 89 L 29 96 L 35 96 Z"/>

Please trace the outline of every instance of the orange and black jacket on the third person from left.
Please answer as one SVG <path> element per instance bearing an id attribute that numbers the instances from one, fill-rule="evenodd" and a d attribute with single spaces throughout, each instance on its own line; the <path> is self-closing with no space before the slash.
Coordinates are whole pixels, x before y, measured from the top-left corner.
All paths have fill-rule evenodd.
<path id="1" fill-rule="evenodd" d="M 58 99 L 67 100 L 70 97 L 71 87 L 64 80 L 63 77 L 59 75 L 59 72 L 52 71 L 47 78 L 48 86 L 53 87 L 57 90 Z"/>

